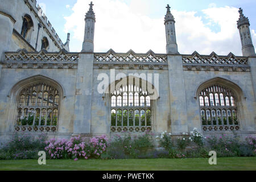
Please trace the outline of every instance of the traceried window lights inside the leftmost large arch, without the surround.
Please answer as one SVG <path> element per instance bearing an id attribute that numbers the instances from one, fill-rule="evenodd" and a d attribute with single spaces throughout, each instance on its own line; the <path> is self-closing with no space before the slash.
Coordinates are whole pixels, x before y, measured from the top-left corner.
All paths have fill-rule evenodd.
<path id="1" fill-rule="evenodd" d="M 16 131 L 56 131 L 59 90 L 43 82 L 22 89 L 18 95 Z"/>

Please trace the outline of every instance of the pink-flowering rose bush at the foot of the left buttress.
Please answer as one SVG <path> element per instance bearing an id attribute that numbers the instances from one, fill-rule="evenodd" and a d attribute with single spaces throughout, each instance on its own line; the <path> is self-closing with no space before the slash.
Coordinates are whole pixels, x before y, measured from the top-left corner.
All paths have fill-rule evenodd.
<path id="1" fill-rule="evenodd" d="M 45 150 L 51 159 L 89 159 L 101 158 L 108 147 L 106 135 L 93 137 L 86 143 L 81 137 L 67 139 L 50 139 L 46 142 Z"/>

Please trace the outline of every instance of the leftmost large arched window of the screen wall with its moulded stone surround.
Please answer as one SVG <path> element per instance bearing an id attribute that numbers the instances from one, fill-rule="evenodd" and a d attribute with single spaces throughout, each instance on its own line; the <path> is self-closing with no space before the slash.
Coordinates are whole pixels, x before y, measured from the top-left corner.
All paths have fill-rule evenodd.
<path id="1" fill-rule="evenodd" d="M 9 110 L 15 131 L 55 132 L 63 96 L 63 87 L 42 75 L 17 82 L 10 90 Z"/>

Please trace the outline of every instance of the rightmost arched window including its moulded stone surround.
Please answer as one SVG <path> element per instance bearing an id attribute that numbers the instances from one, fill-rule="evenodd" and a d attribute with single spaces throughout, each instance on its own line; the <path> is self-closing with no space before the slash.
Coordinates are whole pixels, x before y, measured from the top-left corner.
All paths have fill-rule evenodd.
<path id="1" fill-rule="evenodd" d="M 242 112 L 243 92 L 240 86 L 225 78 L 212 78 L 198 86 L 196 98 L 199 101 L 203 131 L 241 129 L 244 117 Z"/>

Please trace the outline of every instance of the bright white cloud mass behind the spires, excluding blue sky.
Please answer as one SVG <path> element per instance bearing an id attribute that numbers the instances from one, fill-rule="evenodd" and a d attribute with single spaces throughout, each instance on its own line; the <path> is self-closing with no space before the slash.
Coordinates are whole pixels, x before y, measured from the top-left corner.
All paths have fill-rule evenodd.
<path id="1" fill-rule="evenodd" d="M 143 0 L 141 0 L 143 1 Z M 72 33 L 71 51 L 81 51 L 84 39 L 84 15 L 89 9 L 90 0 L 77 0 L 73 6 L 73 14 L 65 17 L 65 31 Z M 94 51 L 105 52 L 110 48 L 115 52 L 147 52 L 149 49 L 157 53 L 166 52 L 164 15 L 162 18 L 150 18 L 148 7 L 139 11 L 143 3 L 131 1 L 127 5 L 118 0 L 97 0 L 94 2 L 96 26 L 94 35 Z M 85 8 L 86 7 L 86 8 Z M 238 9 L 234 7 L 210 6 L 202 10 L 205 17 L 197 16 L 195 11 L 171 10 L 176 21 L 177 44 L 180 53 L 209 54 L 212 51 L 219 55 L 233 52 L 241 55 L 241 42 L 237 30 Z M 208 20 L 203 23 L 202 18 Z M 207 24 L 218 24 L 220 32 L 212 31 Z M 256 42 L 255 31 L 251 31 L 253 42 Z"/>

